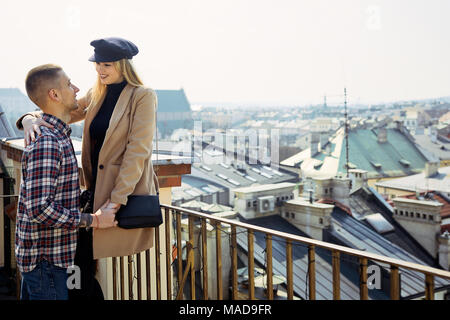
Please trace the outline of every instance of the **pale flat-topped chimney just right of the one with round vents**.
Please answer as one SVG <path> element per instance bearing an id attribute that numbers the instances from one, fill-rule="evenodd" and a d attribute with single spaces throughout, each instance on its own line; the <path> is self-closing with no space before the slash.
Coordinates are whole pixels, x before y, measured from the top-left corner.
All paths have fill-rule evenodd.
<path id="1" fill-rule="evenodd" d="M 311 238 L 323 240 L 323 230 L 331 226 L 334 205 L 311 203 L 297 198 L 284 203 L 281 216 Z"/>

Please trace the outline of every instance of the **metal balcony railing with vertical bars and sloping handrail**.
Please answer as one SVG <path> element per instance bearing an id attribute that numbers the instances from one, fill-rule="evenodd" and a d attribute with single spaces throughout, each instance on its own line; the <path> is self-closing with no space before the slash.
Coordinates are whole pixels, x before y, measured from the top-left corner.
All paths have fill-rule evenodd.
<path id="1" fill-rule="evenodd" d="M 272 241 L 274 237 L 281 238 L 285 241 L 286 244 L 286 290 L 287 290 L 287 299 L 294 299 L 294 276 L 293 276 L 293 245 L 302 244 L 307 246 L 308 248 L 308 296 L 306 298 L 310 300 L 316 299 L 316 248 L 322 248 L 331 252 L 331 265 L 332 265 L 332 293 L 333 299 L 339 300 L 341 298 L 341 288 L 340 288 L 340 275 L 341 275 L 341 257 L 342 255 L 350 255 L 355 257 L 359 263 L 359 297 L 361 300 L 369 299 L 368 294 L 368 283 L 367 283 L 367 268 L 368 262 L 374 261 L 382 264 L 387 264 L 389 266 L 389 282 L 390 282 L 390 299 L 399 300 L 401 298 L 400 295 L 400 276 L 399 276 L 399 268 L 407 269 L 410 271 L 415 271 L 422 273 L 425 277 L 425 281 L 423 283 L 425 299 L 433 300 L 435 296 L 435 277 L 449 279 L 450 280 L 450 272 L 432 268 L 425 265 L 420 265 L 412 262 L 407 262 L 403 260 L 393 259 L 386 256 L 381 256 L 378 254 L 373 254 L 361 250 L 356 250 L 344 246 L 335 245 L 328 242 L 318 241 L 310 238 L 305 238 L 285 232 L 280 232 L 268 228 L 263 228 L 260 226 L 243 223 L 237 220 L 230 220 L 221 217 L 216 217 L 206 213 L 200 213 L 193 210 L 188 210 L 180 207 L 170 206 L 170 205 L 161 205 L 161 209 L 163 210 L 165 223 L 161 225 L 159 228 L 155 228 L 155 266 L 156 271 L 154 272 L 156 275 L 155 283 L 156 283 L 156 299 L 161 299 L 163 296 L 168 299 L 183 299 L 188 298 L 195 300 L 198 295 L 196 295 L 196 272 L 195 272 L 195 258 L 194 258 L 194 249 L 198 250 L 198 254 L 200 255 L 200 264 L 201 264 L 201 291 L 202 291 L 202 299 L 207 300 L 210 297 L 210 290 L 216 290 L 216 297 L 218 300 L 223 299 L 223 289 L 224 283 L 222 279 L 222 232 L 223 227 L 227 226 L 231 228 L 230 232 L 230 240 L 231 240 L 231 288 L 230 298 L 232 300 L 238 300 L 242 298 L 242 293 L 239 292 L 238 288 L 238 246 L 237 246 L 237 233 L 238 228 L 246 230 L 247 233 L 247 257 L 248 257 L 248 293 L 244 298 L 255 299 L 255 259 L 254 259 L 254 242 L 255 242 L 255 232 L 261 232 L 265 234 L 265 252 L 266 252 L 266 265 L 265 272 L 267 274 L 267 290 L 265 290 L 266 299 L 272 300 L 273 296 L 273 263 L 272 263 Z M 183 268 L 183 241 L 182 241 L 182 218 L 186 217 L 188 220 L 187 223 L 187 241 L 185 245 L 186 249 L 186 263 Z M 171 219 L 172 218 L 172 219 Z M 172 223 L 174 222 L 174 223 Z M 214 270 L 208 270 L 208 248 L 207 248 L 207 225 L 214 226 L 213 231 L 215 231 L 215 266 Z M 173 229 L 172 229 L 172 226 Z M 201 237 L 201 246 L 197 244 L 195 248 L 195 239 L 194 239 L 194 227 L 198 226 L 199 237 Z M 165 230 L 165 253 L 161 252 L 161 243 L 160 243 L 160 229 L 164 228 Z M 172 246 L 171 237 L 174 239 L 174 244 Z M 200 239 L 200 238 L 198 238 Z M 200 240 L 198 240 L 200 242 Z M 177 265 L 176 265 L 176 274 L 172 270 L 172 262 L 175 261 L 175 257 L 173 256 L 173 250 L 176 250 L 177 256 Z M 137 285 L 137 299 L 141 299 L 143 297 L 142 289 L 143 287 L 146 292 L 146 298 L 151 299 L 151 270 L 150 270 L 150 250 L 145 252 L 145 276 L 143 277 L 141 266 L 141 254 L 137 254 L 137 270 L 136 277 L 132 276 L 131 271 L 131 263 L 134 261 L 134 257 L 128 257 L 128 298 L 133 298 L 133 278 L 138 279 Z M 165 274 L 164 271 L 161 270 L 161 256 L 165 256 Z M 125 288 L 125 275 L 124 275 L 124 262 L 126 257 L 113 258 L 113 299 L 126 299 L 126 294 L 124 292 Z M 119 262 L 119 271 L 117 270 L 117 263 Z M 184 270 L 183 270 L 184 269 Z M 216 276 L 216 288 L 210 288 L 209 286 L 209 273 L 214 274 Z M 166 292 L 162 294 L 162 275 L 166 280 L 165 289 Z M 190 278 L 189 284 L 187 284 L 188 277 Z M 145 278 L 145 283 L 139 281 L 140 279 Z M 173 286 L 173 280 L 176 280 L 178 286 L 176 286 L 176 292 Z M 450 282 L 449 282 L 450 284 Z M 228 285 L 228 284 L 227 284 Z M 185 287 L 189 287 L 185 289 Z M 190 294 L 186 294 L 186 292 L 190 292 Z M 120 294 L 119 294 L 120 293 Z"/>

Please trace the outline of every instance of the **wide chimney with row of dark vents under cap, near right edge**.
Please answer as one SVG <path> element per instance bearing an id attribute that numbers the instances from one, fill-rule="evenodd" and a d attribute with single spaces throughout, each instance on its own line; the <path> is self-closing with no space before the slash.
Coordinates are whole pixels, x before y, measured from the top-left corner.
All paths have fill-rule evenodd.
<path id="1" fill-rule="evenodd" d="M 394 219 L 434 258 L 438 255 L 442 203 L 431 200 L 394 198 Z"/>

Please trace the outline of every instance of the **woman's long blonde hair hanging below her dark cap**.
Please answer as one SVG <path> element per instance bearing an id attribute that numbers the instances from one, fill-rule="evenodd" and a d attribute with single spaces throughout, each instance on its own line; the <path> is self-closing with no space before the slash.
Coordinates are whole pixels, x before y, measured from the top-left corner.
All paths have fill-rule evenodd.
<path id="1" fill-rule="evenodd" d="M 114 68 L 116 68 L 117 72 L 119 72 L 124 77 L 124 79 L 127 81 L 128 84 L 135 87 L 140 87 L 144 85 L 141 78 L 136 73 L 136 70 L 131 60 L 122 59 L 114 61 L 112 64 Z M 105 95 L 106 95 L 106 85 L 100 81 L 100 76 L 97 75 L 97 81 L 92 87 L 91 102 L 89 104 L 89 108 L 99 103 Z"/>

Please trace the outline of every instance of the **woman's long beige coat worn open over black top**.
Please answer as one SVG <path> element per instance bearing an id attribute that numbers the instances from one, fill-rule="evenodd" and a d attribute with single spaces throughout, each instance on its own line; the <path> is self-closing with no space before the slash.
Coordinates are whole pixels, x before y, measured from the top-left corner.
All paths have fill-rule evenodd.
<path id="1" fill-rule="evenodd" d="M 92 183 L 89 126 L 103 101 L 86 110 L 88 102 L 89 92 L 80 99 L 71 120 L 85 120 L 81 161 L 87 188 Z M 120 94 L 99 154 L 94 212 L 108 198 L 125 205 L 128 195 L 156 194 L 151 162 L 156 108 L 157 97 L 152 89 L 128 84 Z M 153 238 L 153 228 L 95 229 L 94 259 L 144 251 L 153 246 Z"/>

